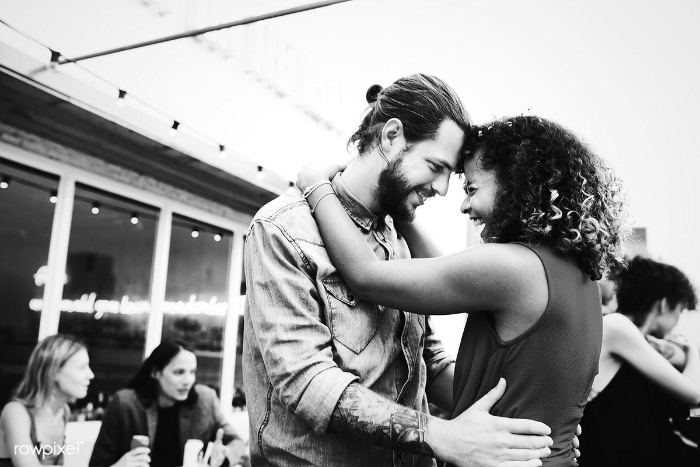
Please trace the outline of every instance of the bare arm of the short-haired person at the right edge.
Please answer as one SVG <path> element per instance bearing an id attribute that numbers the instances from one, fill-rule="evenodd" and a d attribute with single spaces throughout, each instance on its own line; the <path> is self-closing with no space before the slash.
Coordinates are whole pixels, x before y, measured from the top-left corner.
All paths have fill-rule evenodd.
<path id="1" fill-rule="evenodd" d="M 603 319 L 604 339 L 610 352 L 689 405 L 700 404 L 700 355 L 688 352 L 685 370 L 680 373 L 649 345 L 639 329 L 617 313 Z"/>

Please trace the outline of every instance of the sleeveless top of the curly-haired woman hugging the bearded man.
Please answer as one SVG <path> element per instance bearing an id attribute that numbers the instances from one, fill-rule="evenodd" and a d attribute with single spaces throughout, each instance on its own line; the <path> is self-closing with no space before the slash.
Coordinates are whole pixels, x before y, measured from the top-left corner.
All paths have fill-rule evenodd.
<path id="1" fill-rule="evenodd" d="M 530 329 L 507 342 L 499 339 L 491 312 L 469 315 L 455 366 L 452 418 L 505 378 L 506 392 L 491 414 L 547 424 L 554 445 L 543 465 L 575 465 L 572 440 L 598 373 L 603 338 L 598 285 L 573 257 L 525 246 L 544 266 L 547 307 Z"/>

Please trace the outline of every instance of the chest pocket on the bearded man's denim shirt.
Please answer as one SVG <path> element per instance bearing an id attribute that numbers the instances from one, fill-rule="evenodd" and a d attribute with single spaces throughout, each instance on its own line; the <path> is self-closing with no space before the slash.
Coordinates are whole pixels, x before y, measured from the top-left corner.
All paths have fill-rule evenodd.
<path id="1" fill-rule="evenodd" d="M 331 276 L 322 282 L 333 339 L 354 353 L 361 353 L 377 333 L 378 310 L 374 305 L 359 301 L 339 277 Z"/>

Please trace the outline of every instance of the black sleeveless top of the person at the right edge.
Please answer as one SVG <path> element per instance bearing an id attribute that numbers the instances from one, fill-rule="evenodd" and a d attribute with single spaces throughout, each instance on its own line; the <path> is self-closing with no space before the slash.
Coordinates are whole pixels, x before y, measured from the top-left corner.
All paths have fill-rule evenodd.
<path id="1" fill-rule="evenodd" d="M 685 413 L 683 413 L 683 411 Z M 697 453 L 674 434 L 669 417 L 688 414 L 627 363 L 586 406 L 579 464 L 593 467 L 697 466 Z"/>

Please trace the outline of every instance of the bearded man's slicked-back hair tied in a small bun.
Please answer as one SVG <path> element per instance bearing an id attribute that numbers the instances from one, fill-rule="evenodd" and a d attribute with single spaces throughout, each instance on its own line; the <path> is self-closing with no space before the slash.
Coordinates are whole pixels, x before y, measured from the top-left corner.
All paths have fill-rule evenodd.
<path id="1" fill-rule="evenodd" d="M 348 140 L 360 154 L 372 148 L 384 124 L 392 118 L 403 123 L 407 143 L 433 139 L 440 124 L 454 121 L 465 132 L 471 124 L 457 93 L 440 78 L 415 74 L 400 78 L 382 89 L 370 86 L 365 96 L 370 105 L 360 127 Z"/>

